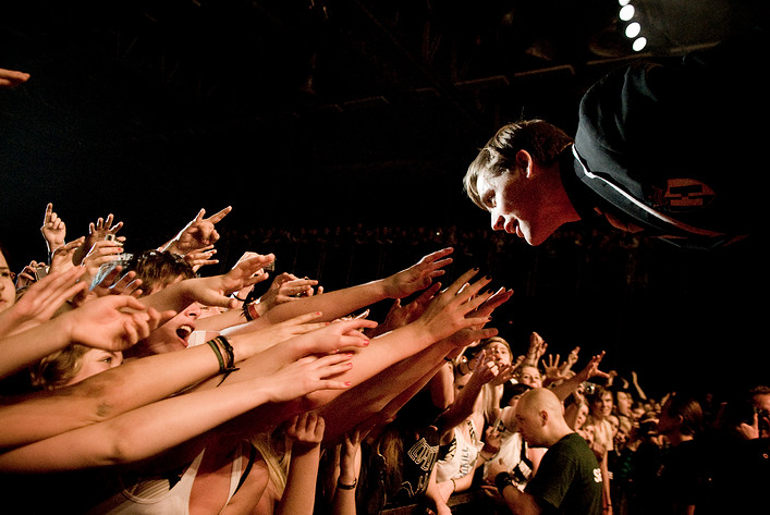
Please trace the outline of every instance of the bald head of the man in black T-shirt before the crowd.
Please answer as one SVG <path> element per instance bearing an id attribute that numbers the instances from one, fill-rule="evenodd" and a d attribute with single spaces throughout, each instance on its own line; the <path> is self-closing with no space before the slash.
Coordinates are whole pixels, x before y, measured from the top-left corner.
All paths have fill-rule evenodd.
<path id="1" fill-rule="evenodd" d="M 531 446 L 549 447 L 573 432 L 564 420 L 564 405 L 547 388 L 534 388 L 522 395 L 516 406 L 516 421 Z"/>

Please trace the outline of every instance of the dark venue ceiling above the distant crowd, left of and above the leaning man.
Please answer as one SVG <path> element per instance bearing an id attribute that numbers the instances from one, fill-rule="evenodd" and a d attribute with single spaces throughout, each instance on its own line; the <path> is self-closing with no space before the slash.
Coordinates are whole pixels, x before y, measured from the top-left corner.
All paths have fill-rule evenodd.
<path id="1" fill-rule="evenodd" d="M 647 50 L 660 56 L 712 45 L 754 10 L 735 0 L 634 3 Z M 571 130 L 587 85 L 638 58 L 618 9 L 616 0 L 3 2 L 0 68 L 32 74 L 0 91 L 3 232 L 16 236 L 17 219 L 36 231 L 49 200 L 77 223 L 167 206 L 182 210 L 168 221 L 174 230 L 199 207 L 227 204 L 269 223 L 340 211 L 486 223 L 462 198 L 475 149 L 522 115 Z"/>

